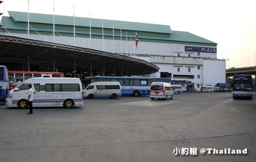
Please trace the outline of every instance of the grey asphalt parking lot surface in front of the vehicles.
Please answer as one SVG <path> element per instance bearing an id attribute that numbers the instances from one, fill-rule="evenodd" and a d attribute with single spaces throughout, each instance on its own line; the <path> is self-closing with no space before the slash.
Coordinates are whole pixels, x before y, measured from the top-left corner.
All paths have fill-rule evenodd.
<path id="1" fill-rule="evenodd" d="M 84 99 L 72 109 L 0 104 L 0 162 L 255 162 L 256 97 L 182 93 Z M 198 155 L 174 155 L 175 148 Z M 201 148 L 244 149 L 247 155 L 200 154 Z"/>

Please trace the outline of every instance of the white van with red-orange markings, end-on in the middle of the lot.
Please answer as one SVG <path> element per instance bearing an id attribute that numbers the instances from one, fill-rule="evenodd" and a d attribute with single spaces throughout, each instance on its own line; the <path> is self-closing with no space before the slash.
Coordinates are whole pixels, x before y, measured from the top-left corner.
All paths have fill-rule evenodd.
<path id="1" fill-rule="evenodd" d="M 173 89 L 171 84 L 165 82 L 153 82 L 150 88 L 151 100 L 154 98 L 164 98 L 167 100 L 168 98 L 173 98 Z"/>

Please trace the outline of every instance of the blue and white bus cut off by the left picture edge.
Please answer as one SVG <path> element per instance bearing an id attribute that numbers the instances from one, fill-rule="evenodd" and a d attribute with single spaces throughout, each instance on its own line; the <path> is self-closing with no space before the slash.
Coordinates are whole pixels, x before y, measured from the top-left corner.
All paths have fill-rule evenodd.
<path id="1" fill-rule="evenodd" d="M 9 78 L 6 66 L 0 65 L 0 101 L 4 101 L 9 92 Z"/>

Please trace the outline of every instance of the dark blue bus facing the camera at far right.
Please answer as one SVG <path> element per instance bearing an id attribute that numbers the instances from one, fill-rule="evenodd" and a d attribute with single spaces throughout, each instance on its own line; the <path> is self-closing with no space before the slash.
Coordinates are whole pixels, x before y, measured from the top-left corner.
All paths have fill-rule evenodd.
<path id="1" fill-rule="evenodd" d="M 253 98 L 253 79 L 251 75 L 234 75 L 233 98 Z"/>

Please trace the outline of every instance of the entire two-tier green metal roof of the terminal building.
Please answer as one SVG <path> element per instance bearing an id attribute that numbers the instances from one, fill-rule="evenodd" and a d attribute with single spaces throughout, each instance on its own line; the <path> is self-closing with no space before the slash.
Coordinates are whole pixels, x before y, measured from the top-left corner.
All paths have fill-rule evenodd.
<path id="1" fill-rule="evenodd" d="M 5 23 L 8 30 L 16 31 L 17 33 L 25 33 L 27 30 L 27 13 L 9 11 L 11 17 L 2 17 L 1 23 Z M 51 14 L 35 14 L 29 13 L 30 26 L 42 35 L 51 35 L 52 33 L 52 16 Z M 116 20 L 104 21 L 104 36 L 113 36 L 112 28 L 114 23 L 115 39 L 120 37 L 120 28 L 122 27 L 122 36 L 125 37 L 125 32 L 128 37 L 135 37 L 137 30 L 140 41 L 163 42 L 163 43 L 204 43 L 207 46 L 216 46 L 217 43 L 199 37 L 189 32 L 172 31 L 170 26 L 156 25 L 147 23 L 135 23 Z M 102 19 L 91 19 L 92 35 L 102 35 Z M 3 27 L 1 27 L 3 28 Z M 32 29 L 30 29 L 31 31 Z M 55 15 L 55 30 L 59 33 L 73 35 L 73 17 Z M 23 32 L 22 32 L 23 31 Z M 33 32 L 33 31 L 32 31 Z M 76 34 L 89 35 L 89 18 L 76 17 Z M 48 34 L 47 34 L 48 33 Z M 172 34 L 171 34 L 172 33 Z M 83 37 L 83 36 L 82 36 Z M 86 37 L 86 36 L 85 36 Z M 112 39 L 112 38 L 111 38 Z M 144 39 L 144 40 L 143 40 Z M 160 41 L 161 40 L 161 41 Z"/>

